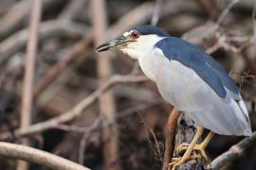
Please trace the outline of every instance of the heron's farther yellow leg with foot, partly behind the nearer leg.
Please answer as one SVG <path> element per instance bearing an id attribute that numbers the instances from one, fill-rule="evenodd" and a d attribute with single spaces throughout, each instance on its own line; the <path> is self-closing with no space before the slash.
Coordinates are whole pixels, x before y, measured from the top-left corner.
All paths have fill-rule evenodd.
<path id="1" fill-rule="evenodd" d="M 213 137 L 214 135 L 214 132 L 210 131 L 210 133 L 208 134 L 208 136 L 205 138 L 205 140 L 201 143 L 201 144 L 195 144 L 194 147 L 193 147 L 193 150 L 197 150 L 200 152 L 202 158 L 205 160 L 205 161 L 209 161 L 208 157 L 207 157 L 207 154 L 205 152 L 205 148 L 208 146 L 208 144 L 210 143 L 210 140 L 211 138 Z M 186 143 L 183 143 L 183 144 L 180 144 L 177 148 L 176 148 L 176 152 L 177 153 L 180 153 L 182 152 L 183 150 L 187 150 L 189 148 L 189 145 L 190 144 L 186 144 Z"/>

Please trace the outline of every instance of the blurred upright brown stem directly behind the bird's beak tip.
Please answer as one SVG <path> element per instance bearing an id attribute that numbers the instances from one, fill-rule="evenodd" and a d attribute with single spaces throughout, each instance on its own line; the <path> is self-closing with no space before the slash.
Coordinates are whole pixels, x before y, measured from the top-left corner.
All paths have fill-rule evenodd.
<path id="1" fill-rule="evenodd" d="M 104 0 L 91 0 L 93 17 L 93 30 L 94 30 L 94 42 L 99 45 L 106 41 L 106 27 L 107 27 L 107 12 Z M 100 79 L 100 87 L 104 85 L 106 79 L 112 74 L 112 63 L 109 53 L 97 54 L 97 74 Z M 117 124 L 115 123 L 115 97 L 112 91 L 104 93 L 99 98 L 100 112 L 104 118 L 102 124 L 108 124 L 112 122 L 112 126 L 105 127 L 102 130 L 102 136 L 104 141 L 103 154 L 104 164 L 106 170 L 119 170 L 119 163 L 113 163 L 113 159 L 117 159 L 119 156 L 119 131 Z M 114 134 L 114 135 L 113 135 Z"/>

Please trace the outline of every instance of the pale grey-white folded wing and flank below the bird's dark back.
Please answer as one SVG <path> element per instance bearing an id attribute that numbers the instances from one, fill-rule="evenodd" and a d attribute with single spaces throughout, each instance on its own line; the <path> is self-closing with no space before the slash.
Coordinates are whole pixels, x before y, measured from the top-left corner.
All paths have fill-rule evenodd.
<path id="1" fill-rule="evenodd" d="M 168 59 L 155 48 L 155 82 L 161 95 L 197 124 L 225 135 L 250 135 L 250 123 L 241 95 L 238 102 L 224 85 L 222 98 L 194 69 L 180 60 Z M 203 67 L 202 67 L 203 68 Z M 212 79 L 214 81 L 216 79 Z M 231 93 L 230 93 L 231 92 Z M 240 102 L 240 103 L 239 103 Z M 241 106 L 240 106 L 241 105 Z"/>

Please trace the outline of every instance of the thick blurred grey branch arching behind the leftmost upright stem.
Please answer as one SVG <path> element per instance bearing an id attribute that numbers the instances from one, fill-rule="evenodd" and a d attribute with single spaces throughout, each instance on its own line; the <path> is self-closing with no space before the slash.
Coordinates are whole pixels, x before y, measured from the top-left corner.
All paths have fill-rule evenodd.
<path id="1" fill-rule="evenodd" d="M 39 29 L 39 42 L 56 37 L 82 37 L 88 28 L 75 22 L 64 22 L 62 20 L 52 20 L 42 23 Z M 6 61 L 12 55 L 22 50 L 26 46 L 28 39 L 28 29 L 12 34 L 8 39 L 0 43 L 0 69 L 4 67 Z"/>

